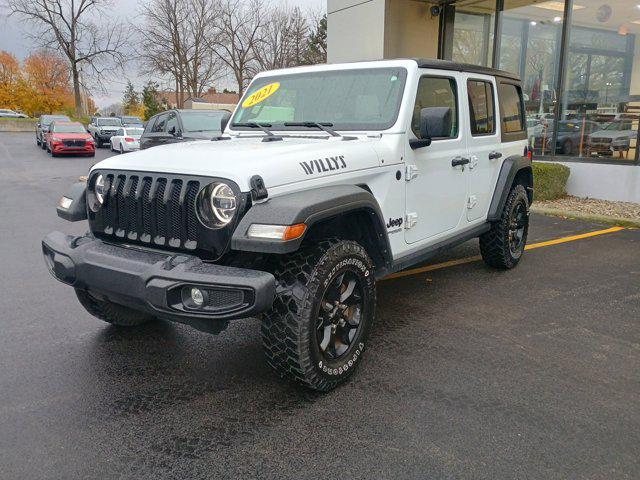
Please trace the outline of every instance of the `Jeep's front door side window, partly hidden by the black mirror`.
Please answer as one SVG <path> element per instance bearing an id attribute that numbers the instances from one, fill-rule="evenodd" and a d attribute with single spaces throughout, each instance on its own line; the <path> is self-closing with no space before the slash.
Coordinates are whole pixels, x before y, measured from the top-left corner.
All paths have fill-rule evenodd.
<path id="1" fill-rule="evenodd" d="M 449 107 L 451 109 L 451 133 L 448 137 L 458 136 L 458 89 L 453 78 L 422 77 L 418 83 L 416 104 L 413 107 L 411 130 L 420 138 L 420 110 L 427 107 Z M 441 137 L 442 138 L 442 137 Z"/>

